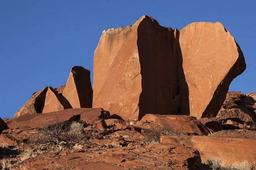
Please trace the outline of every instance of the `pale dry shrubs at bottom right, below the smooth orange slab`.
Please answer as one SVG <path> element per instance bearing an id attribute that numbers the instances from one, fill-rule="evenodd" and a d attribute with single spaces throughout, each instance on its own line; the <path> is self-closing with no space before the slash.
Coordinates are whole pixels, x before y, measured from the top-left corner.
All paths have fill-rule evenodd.
<path id="1" fill-rule="evenodd" d="M 248 161 L 224 165 L 221 158 L 209 157 L 207 160 L 208 170 L 255 170 Z"/>

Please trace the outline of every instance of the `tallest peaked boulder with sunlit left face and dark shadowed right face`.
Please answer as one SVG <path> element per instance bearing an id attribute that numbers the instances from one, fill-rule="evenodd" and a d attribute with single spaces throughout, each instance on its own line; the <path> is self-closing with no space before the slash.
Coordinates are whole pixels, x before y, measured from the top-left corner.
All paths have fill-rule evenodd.
<path id="1" fill-rule="evenodd" d="M 178 31 L 143 16 L 103 31 L 94 53 L 93 107 L 122 119 L 177 113 Z"/>

